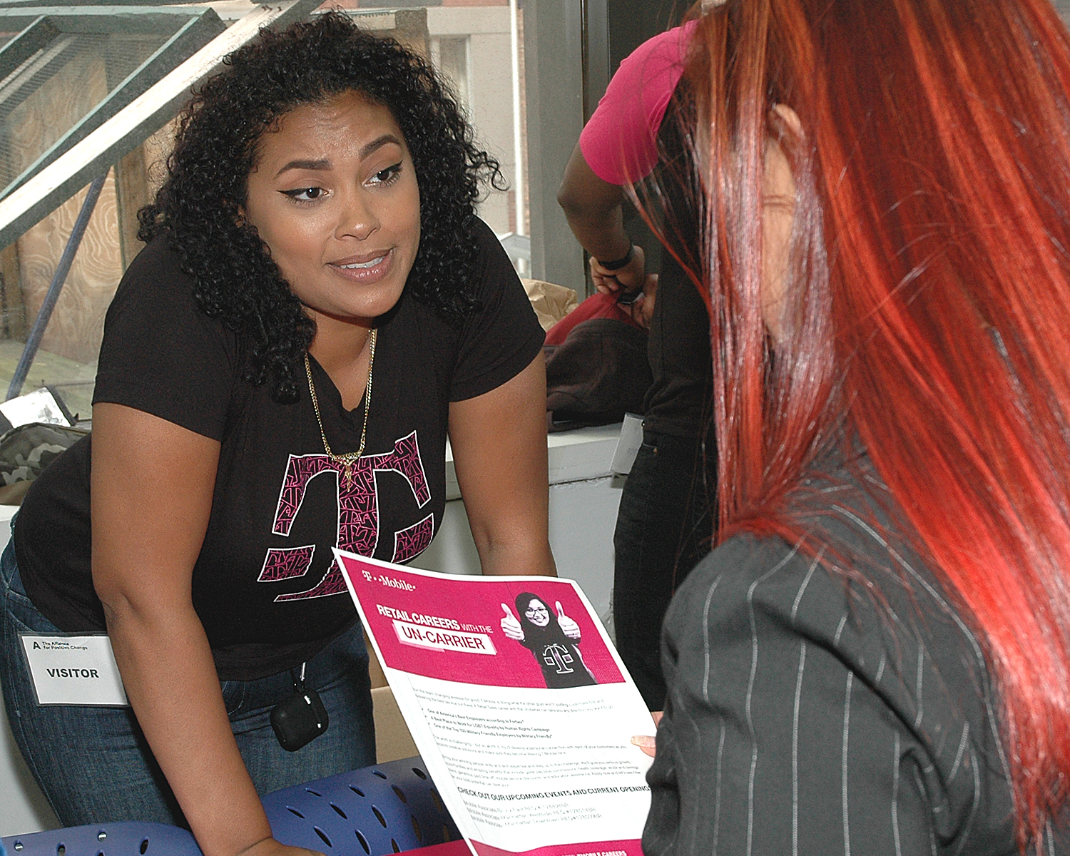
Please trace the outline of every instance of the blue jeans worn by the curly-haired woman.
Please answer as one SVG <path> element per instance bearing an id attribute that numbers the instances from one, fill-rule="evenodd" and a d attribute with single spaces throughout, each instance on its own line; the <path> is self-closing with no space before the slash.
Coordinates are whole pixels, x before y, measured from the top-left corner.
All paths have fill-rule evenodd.
<path id="1" fill-rule="evenodd" d="M 59 628 L 27 597 L 11 544 L 0 556 L 0 685 L 7 719 L 60 823 L 186 826 L 131 708 L 36 704 L 18 635 Z M 320 693 L 330 727 L 301 750 L 287 752 L 269 717 L 293 693 L 290 673 L 221 683 L 238 748 L 260 794 L 376 763 L 368 652 L 360 623 L 308 661 L 305 684 Z"/>

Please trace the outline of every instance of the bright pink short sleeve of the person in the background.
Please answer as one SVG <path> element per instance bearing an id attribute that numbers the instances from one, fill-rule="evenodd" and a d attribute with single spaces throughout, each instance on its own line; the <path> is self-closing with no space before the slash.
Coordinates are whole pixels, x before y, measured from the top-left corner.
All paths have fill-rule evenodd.
<path id="1" fill-rule="evenodd" d="M 684 74 L 688 21 L 641 44 L 616 70 L 580 134 L 587 166 L 610 184 L 631 184 L 658 163 L 657 137 L 666 108 Z"/>

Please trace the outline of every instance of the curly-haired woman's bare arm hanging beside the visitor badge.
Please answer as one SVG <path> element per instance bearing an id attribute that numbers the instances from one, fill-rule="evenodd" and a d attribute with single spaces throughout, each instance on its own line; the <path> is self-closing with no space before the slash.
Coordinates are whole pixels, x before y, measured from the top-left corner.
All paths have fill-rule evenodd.
<path id="1" fill-rule="evenodd" d="M 271 828 L 227 719 L 193 568 L 217 441 L 119 404 L 93 407 L 93 586 L 127 698 L 204 856 Z"/>

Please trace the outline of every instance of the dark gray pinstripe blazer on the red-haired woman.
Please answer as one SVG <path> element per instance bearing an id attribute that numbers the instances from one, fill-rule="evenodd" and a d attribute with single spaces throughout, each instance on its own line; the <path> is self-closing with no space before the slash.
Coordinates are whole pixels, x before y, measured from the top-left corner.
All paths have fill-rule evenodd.
<path id="1" fill-rule="evenodd" d="M 980 645 L 889 544 L 874 479 L 811 487 L 805 504 L 829 513 L 821 525 L 858 578 L 749 536 L 687 578 L 662 630 L 644 852 L 1018 853 Z M 1067 852 L 1051 839 L 1044 853 Z"/>

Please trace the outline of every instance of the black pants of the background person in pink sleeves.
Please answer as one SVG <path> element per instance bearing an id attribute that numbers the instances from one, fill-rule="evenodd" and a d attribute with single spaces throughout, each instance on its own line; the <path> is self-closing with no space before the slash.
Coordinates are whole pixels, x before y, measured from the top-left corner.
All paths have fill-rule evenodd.
<path id="1" fill-rule="evenodd" d="M 709 552 L 715 463 L 703 461 L 699 440 L 644 430 L 621 495 L 613 626 L 621 659 L 651 710 L 660 710 L 666 697 L 661 621 L 676 586 Z"/>

